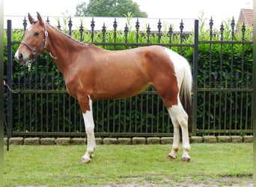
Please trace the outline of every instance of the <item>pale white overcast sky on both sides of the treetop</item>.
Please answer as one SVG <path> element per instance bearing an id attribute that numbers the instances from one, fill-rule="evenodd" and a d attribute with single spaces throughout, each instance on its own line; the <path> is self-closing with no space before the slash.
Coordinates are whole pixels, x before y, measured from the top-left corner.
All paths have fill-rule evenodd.
<path id="1" fill-rule="evenodd" d="M 74 15 L 76 5 L 89 0 L 4 0 L 4 16 L 32 16 L 39 12 L 41 16 Z M 228 18 L 237 20 L 241 8 L 252 8 L 253 0 L 133 0 L 150 18 L 192 18 L 198 19 L 201 12 L 204 17 L 216 22 Z M 15 5 L 14 5 L 15 4 Z"/>

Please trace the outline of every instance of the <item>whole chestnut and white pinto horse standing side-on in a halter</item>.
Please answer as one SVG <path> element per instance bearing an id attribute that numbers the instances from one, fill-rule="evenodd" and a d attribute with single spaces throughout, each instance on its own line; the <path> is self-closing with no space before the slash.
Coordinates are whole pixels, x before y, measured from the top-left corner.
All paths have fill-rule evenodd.
<path id="1" fill-rule="evenodd" d="M 28 13 L 28 20 L 31 26 L 25 31 L 14 58 L 19 64 L 28 65 L 46 50 L 55 61 L 64 76 L 67 92 L 79 102 L 85 122 L 88 141 L 80 162 L 90 162 L 96 148 L 92 102 L 135 96 L 150 85 L 161 96 L 174 126 L 174 141 L 167 158 L 177 158 L 181 135 L 180 160 L 189 162 L 191 114 L 187 111 L 192 104 L 192 73 L 186 58 L 157 45 L 109 51 L 73 39 L 43 22 L 40 13 L 37 20 Z"/>

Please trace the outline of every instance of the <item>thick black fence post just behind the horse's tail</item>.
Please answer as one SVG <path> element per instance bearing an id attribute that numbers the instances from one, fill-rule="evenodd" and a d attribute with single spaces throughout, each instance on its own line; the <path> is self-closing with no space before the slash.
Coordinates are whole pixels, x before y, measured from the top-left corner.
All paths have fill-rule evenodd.
<path id="1" fill-rule="evenodd" d="M 195 19 L 194 54 L 193 54 L 193 86 L 192 86 L 192 135 L 196 135 L 198 108 L 198 19 Z"/>

